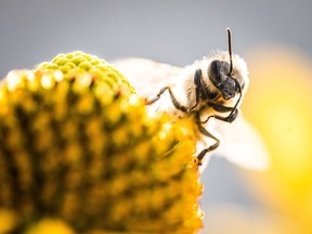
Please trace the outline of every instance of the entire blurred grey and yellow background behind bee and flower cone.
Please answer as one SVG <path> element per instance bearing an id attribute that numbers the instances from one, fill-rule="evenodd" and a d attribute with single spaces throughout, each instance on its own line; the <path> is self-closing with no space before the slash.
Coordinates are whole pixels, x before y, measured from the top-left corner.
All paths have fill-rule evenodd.
<path id="1" fill-rule="evenodd" d="M 250 69 L 243 110 L 271 166 L 255 172 L 212 158 L 203 233 L 312 233 L 311 12 L 311 0 L 1 1 L 0 77 L 76 50 L 184 66 L 226 50 L 230 27 Z"/>

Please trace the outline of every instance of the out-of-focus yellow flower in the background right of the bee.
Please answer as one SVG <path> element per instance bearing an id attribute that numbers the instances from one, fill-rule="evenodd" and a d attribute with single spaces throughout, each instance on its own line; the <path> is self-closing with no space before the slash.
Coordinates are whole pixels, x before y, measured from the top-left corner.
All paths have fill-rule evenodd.
<path id="1" fill-rule="evenodd" d="M 312 233 L 312 60 L 278 47 L 250 54 L 243 112 L 272 158 L 265 172 L 247 176 L 261 202 Z"/>

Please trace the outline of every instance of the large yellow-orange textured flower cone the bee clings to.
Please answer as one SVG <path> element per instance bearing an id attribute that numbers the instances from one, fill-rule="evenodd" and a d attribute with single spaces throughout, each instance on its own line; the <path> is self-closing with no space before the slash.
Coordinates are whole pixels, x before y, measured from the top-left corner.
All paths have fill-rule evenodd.
<path id="1" fill-rule="evenodd" d="M 94 55 L 9 73 L 0 84 L 0 233 L 197 233 L 192 125 L 147 116 L 127 78 Z"/>

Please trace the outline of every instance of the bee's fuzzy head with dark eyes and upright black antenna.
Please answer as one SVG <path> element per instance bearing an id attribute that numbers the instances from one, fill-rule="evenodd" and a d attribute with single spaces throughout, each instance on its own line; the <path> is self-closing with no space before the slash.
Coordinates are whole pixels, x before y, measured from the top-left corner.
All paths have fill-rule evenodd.
<path id="1" fill-rule="evenodd" d="M 208 65 L 208 77 L 222 98 L 227 101 L 233 99 L 237 93 L 243 92 L 248 84 L 248 72 L 246 63 L 238 55 L 232 55 L 231 31 L 229 36 L 229 54 L 219 54 L 211 57 Z"/>

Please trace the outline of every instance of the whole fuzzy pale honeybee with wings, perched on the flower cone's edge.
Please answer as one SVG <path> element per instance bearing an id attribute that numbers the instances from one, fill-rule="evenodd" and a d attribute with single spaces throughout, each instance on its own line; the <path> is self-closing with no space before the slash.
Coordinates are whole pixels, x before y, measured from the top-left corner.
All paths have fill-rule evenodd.
<path id="1" fill-rule="evenodd" d="M 114 64 L 146 98 L 151 115 L 166 112 L 179 118 L 194 117 L 199 165 L 207 165 L 212 152 L 245 168 L 263 169 L 268 165 L 265 146 L 239 110 L 249 84 L 247 64 L 232 54 L 232 34 L 229 28 L 226 32 L 227 52 L 204 56 L 185 67 L 136 57 Z"/>

